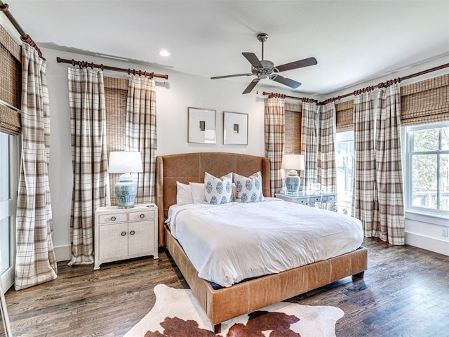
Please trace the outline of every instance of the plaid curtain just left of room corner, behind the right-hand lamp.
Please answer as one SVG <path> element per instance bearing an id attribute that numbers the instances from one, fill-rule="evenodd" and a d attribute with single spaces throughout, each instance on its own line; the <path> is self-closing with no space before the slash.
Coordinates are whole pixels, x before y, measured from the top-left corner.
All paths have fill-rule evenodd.
<path id="1" fill-rule="evenodd" d="M 318 178 L 318 112 L 319 106 L 315 103 L 302 103 L 301 153 L 304 154 L 305 168 L 302 190 L 310 190 Z"/>

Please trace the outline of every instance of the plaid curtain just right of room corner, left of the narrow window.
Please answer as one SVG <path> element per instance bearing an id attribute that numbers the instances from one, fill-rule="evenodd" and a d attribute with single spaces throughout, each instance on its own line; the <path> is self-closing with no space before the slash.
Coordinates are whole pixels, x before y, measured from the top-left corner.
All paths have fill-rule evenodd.
<path id="1" fill-rule="evenodd" d="M 318 155 L 318 181 L 328 193 L 336 190 L 335 130 L 335 103 L 328 103 L 321 107 Z"/>

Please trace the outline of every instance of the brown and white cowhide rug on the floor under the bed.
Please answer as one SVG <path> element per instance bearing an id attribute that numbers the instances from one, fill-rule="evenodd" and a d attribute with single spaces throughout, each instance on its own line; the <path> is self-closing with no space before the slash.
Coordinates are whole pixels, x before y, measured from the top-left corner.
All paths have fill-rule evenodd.
<path id="1" fill-rule="evenodd" d="M 281 302 L 223 322 L 222 332 L 215 334 L 190 289 L 158 284 L 154 293 L 154 307 L 125 337 L 335 336 L 335 323 L 344 315 L 335 307 Z"/>

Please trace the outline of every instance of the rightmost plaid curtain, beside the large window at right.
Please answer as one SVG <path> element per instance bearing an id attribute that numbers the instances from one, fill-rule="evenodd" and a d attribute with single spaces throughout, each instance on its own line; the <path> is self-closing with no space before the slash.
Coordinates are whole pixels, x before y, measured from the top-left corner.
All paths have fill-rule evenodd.
<path id="1" fill-rule="evenodd" d="M 373 236 L 404 244 L 405 215 L 401 161 L 401 88 L 381 88 L 376 123 L 377 209 Z"/>

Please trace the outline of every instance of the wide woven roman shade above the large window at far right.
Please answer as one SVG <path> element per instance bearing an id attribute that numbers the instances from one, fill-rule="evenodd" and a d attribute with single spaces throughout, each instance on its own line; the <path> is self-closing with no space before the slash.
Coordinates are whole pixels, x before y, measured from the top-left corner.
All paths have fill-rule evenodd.
<path id="1" fill-rule="evenodd" d="M 401 125 L 449 120 L 449 74 L 401 88 Z"/>

